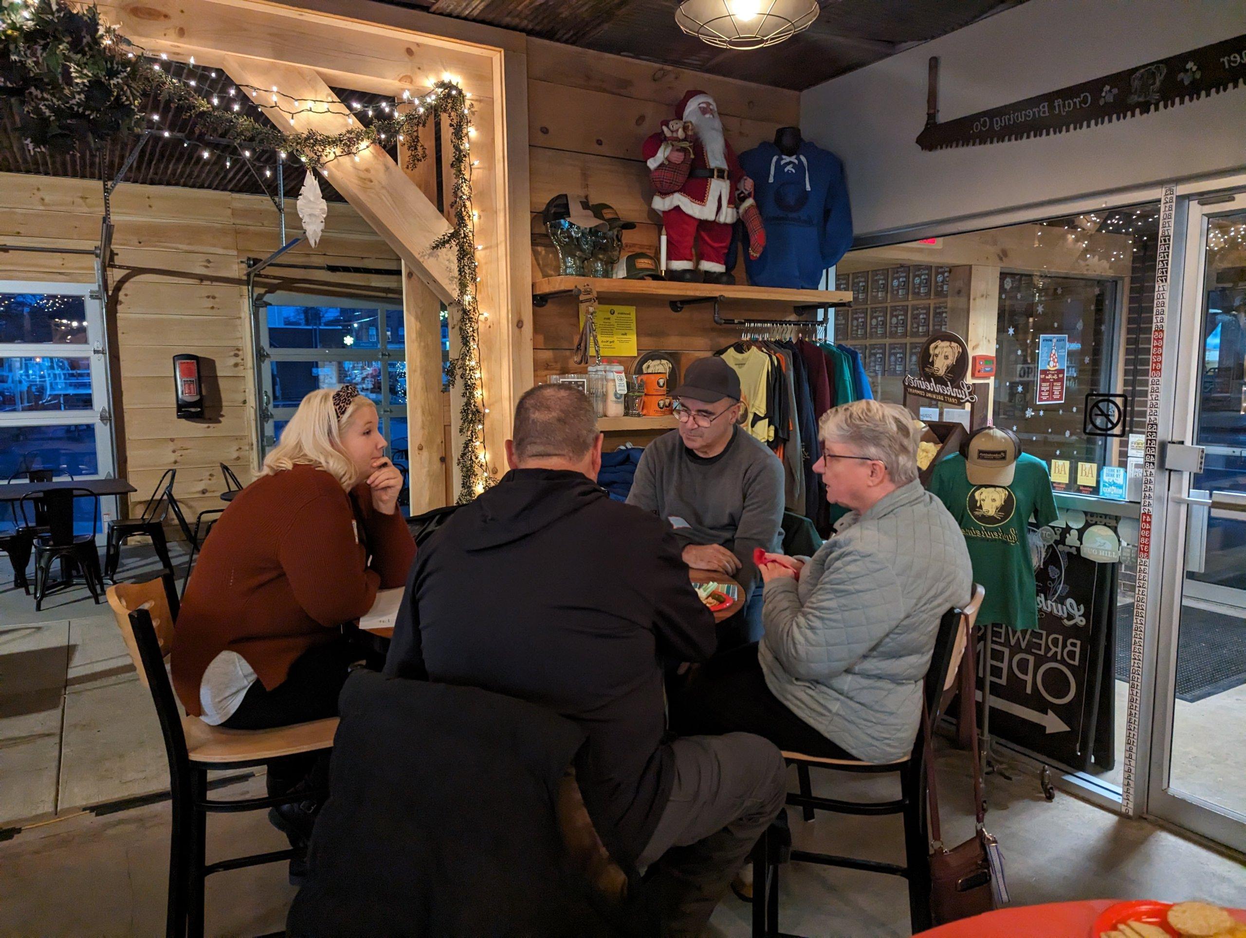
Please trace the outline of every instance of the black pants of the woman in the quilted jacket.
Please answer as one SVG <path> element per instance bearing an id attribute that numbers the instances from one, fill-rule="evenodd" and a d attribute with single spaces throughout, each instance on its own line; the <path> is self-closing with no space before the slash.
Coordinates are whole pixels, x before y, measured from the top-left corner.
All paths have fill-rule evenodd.
<path id="1" fill-rule="evenodd" d="M 682 736 L 755 732 L 789 752 L 856 759 L 770 693 L 758 661 L 756 644 L 701 665 L 670 701 L 670 726 Z"/>

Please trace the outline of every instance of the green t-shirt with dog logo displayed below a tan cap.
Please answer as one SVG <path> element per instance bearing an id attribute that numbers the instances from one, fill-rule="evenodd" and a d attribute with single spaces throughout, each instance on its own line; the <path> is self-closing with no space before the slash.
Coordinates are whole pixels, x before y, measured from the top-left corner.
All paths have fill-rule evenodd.
<path id="1" fill-rule="evenodd" d="M 982 624 L 1014 629 L 1038 627 L 1038 588 L 1029 553 L 1029 518 L 1055 521 L 1055 497 L 1047 463 L 1022 453 L 1011 486 L 974 486 L 964 457 L 949 456 L 934 467 L 927 490 L 961 526 L 973 561 L 973 579 L 986 587 L 978 612 Z"/>

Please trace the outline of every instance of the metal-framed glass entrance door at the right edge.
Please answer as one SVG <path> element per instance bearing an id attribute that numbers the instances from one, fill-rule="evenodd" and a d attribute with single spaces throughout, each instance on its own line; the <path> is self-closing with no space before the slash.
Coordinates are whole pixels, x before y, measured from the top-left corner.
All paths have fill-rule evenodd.
<path id="1" fill-rule="evenodd" d="M 1186 239 L 1148 812 L 1246 850 L 1246 192 Z"/>

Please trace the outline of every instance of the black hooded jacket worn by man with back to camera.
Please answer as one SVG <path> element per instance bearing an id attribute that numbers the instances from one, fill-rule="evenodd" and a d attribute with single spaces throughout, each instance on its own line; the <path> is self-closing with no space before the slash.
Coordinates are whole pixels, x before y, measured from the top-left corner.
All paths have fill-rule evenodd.
<path id="1" fill-rule="evenodd" d="M 385 674 L 483 688 L 577 722 L 588 813 L 630 863 L 673 782 L 662 663 L 714 647 L 714 617 L 664 521 L 578 472 L 515 470 L 421 546 Z"/>

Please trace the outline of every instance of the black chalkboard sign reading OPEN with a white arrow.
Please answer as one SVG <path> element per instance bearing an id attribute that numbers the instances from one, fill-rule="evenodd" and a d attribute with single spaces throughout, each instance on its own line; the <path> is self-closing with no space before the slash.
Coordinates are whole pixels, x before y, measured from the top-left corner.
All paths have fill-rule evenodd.
<path id="1" fill-rule="evenodd" d="M 1040 533 L 1045 547 L 1035 573 L 1038 628 L 978 624 L 979 637 L 992 630 L 991 735 L 1084 771 L 1100 719 L 1101 663 L 1116 614 L 1116 564 L 1083 557 L 1077 528 Z M 978 648 L 981 686 L 981 638 Z"/>

